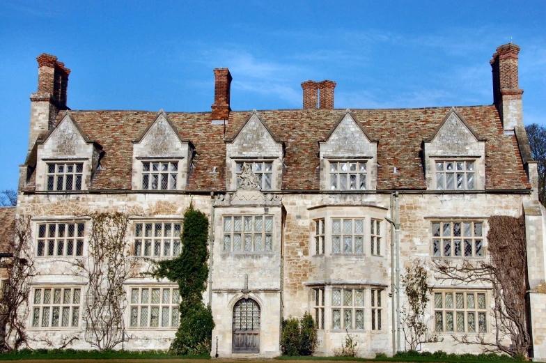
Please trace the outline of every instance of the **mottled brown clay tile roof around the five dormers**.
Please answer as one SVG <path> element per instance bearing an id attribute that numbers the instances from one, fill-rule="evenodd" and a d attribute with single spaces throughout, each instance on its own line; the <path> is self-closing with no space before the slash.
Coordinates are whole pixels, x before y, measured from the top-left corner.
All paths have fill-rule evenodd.
<path id="1" fill-rule="evenodd" d="M 486 189 L 529 189 L 514 135 L 505 135 L 493 105 L 456 107 L 473 132 L 485 139 Z M 420 109 L 351 109 L 372 140 L 377 140 L 377 190 L 426 190 L 419 152 L 444 121 L 451 107 Z M 258 111 L 260 120 L 286 145 L 283 190 L 319 190 L 318 141 L 326 139 L 345 114 L 343 109 Z M 194 169 L 187 190 L 226 189 L 226 141 L 233 139 L 252 111 L 231 111 L 228 124 L 211 125 L 210 112 L 168 112 L 180 137 L 195 146 Z M 72 118 L 105 152 L 102 170 L 90 190 L 131 188 L 132 141 L 157 111 L 75 111 Z M 62 118 L 58 116 L 57 122 Z M 217 167 L 217 173 L 212 173 Z M 396 167 L 398 173 L 393 174 Z M 32 180 L 32 178 L 31 178 Z"/>

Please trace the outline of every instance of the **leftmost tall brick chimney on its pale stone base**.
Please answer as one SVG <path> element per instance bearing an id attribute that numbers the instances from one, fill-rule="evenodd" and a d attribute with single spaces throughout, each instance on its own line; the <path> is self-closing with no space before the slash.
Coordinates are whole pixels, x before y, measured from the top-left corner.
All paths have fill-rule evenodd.
<path id="1" fill-rule="evenodd" d="M 38 92 L 31 94 L 31 119 L 29 130 L 29 151 L 38 135 L 53 126 L 59 111 L 66 106 L 68 75 L 70 69 L 57 61 L 56 56 L 40 54 L 38 58 Z"/>

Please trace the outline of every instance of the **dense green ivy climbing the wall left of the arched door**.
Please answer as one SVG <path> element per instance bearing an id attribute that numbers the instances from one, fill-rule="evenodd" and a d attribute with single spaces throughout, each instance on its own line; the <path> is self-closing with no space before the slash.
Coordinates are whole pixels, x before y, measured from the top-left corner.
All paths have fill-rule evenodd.
<path id="1" fill-rule="evenodd" d="M 179 355 L 210 353 L 214 320 L 210 306 L 205 307 L 203 293 L 208 277 L 208 218 L 191 204 L 184 214 L 182 253 L 176 258 L 158 261 L 151 272 L 180 286 L 180 325 L 171 343 L 171 352 Z"/>

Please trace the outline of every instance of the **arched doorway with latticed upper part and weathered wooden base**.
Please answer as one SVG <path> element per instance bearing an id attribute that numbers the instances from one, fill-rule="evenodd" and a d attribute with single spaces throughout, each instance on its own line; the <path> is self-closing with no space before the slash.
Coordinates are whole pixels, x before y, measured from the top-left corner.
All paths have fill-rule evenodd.
<path id="1" fill-rule="evenodd" d="M 233 307 L 233 352 L 260 353 L 260 306 L 252 299 L 241 299 Z"/>

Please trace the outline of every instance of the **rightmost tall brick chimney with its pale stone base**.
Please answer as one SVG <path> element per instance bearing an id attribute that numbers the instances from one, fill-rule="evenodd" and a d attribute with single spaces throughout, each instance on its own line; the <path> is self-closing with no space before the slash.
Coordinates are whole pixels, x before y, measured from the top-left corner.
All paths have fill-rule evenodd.
<path id="1" fill-rule="evenodd" d="M 493 103 L 501 116 L 504 132 L 512 134 L 515 126 L 523 127 L 522 94 L 518 84 L 517 54 L 520 47 L 508 43 L 497 47 L 489 62 L 493 75 Z"/>

